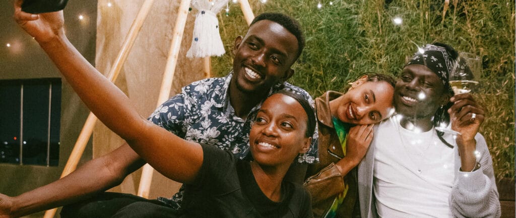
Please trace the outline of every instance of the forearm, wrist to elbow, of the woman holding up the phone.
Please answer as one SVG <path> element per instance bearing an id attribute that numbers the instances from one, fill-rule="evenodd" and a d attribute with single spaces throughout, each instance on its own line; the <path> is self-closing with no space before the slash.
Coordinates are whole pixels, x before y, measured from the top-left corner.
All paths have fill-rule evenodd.
<path id="1" fill-rule="evenodd" d="M 96 70 L 69 42 L 64 33 L 40 44 L 77 95 L 109 129 L 124 139 L 138 132 L 144 121 L 127 96 Z"/>

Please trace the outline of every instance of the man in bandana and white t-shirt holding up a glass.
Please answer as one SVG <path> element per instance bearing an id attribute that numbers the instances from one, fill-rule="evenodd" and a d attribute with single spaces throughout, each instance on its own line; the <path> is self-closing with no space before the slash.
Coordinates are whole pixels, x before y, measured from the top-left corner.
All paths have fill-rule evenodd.
<path id="1" fill-rule="evenodd" d="M 457 51 L 435 43 L 402 69 L 396 115 L 376 127 L 359 165 L 362 217 L 501 215 L 491 156 L 478 133 L 485 112 L 471 94 L 454 96 L 448 84 L 450 70 L 466 68 Z M 460 135 L 436 131 L 441 123 Z"/>

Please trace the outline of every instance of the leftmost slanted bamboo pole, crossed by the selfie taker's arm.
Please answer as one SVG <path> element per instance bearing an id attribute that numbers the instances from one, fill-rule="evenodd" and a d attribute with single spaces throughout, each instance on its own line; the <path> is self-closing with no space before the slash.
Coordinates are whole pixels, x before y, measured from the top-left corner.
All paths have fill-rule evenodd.
<path id="1" fill-rule="evenodd" d="M 152 7 L 153 2 L 154 0 L 146 0 L 145 2 L 143 2 L 140 11 L 138 12 L 138 15 L 136 16 L 133 24 L 131 25 L 131 28 L 129 29 L 129 32 L 127 33 L 127 36 L 125 37 L 125 40 L 122 44 L 122 48 L 118 52 L 118 56 L 115 59 L 115 62 L 107 75 L 107 78 L 111 82 L 115 82 L 117 80 L 117 77 L 120 74 L 120 69 L 122 68 L 125 60 L 127 60 L 127 56 L 129 55 L 129 52 L 131 51 L 131 48 L 134 45 L 136 37 L 138 36 L 138 33 L 141 30 L 141 26 L 143 25 L 143 22 L 145 21 L 147 14 L 149 13 Z M 90 112 L 88 118 L 86 119 L 86 122 L 84 123 L 83 129 L 80 131 L 79 137 L 75 142 L 72 153 L 70 154 L 70 157 L 68 158 L 68 161 L 65 165 L 65 169 L 63 169 L 63 172 L 61 173 L 61 178 L 67 176 L 71 172 L 75 171 L 75 169 L 77 168 L 77 164 L 79 163 L 80 157 L 83 155 L 84 149 L 86 149 L 86 144 L 90 139 L 91 133 L 93 133 L 93 128 L 95 126 L 96 121 L 97 118 L 95 117 L 95 115 L 93 115 L 93 113 Z M 57 208 L 47 210 L 45 211 L 45 215 L 43 217 L 54 217 L 56 211 Z"/>

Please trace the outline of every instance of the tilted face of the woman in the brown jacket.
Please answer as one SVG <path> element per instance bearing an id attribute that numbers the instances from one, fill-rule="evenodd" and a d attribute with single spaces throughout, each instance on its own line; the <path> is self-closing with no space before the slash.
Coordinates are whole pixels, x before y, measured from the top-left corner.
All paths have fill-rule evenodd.
<path id="1" fill-rule="evenodd" d="M 393 108 L 394 87 L 385 81 L 366 81 L 348 90 L 336 101 L 332 115 L 345 123 L 367 125 L 387 118 Z"/>

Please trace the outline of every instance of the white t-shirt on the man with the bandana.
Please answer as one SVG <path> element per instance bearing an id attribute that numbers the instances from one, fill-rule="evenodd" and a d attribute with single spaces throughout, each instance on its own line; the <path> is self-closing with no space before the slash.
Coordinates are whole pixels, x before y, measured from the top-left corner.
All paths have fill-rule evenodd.
<path id="1" fill-rule="evenodd" d="M 381 217 L 451 217 L 454 149 L 442 143 L 433 128 L 409 131 L 392 117 L 380 123 L 372 143 L 373 191 Z"/>

